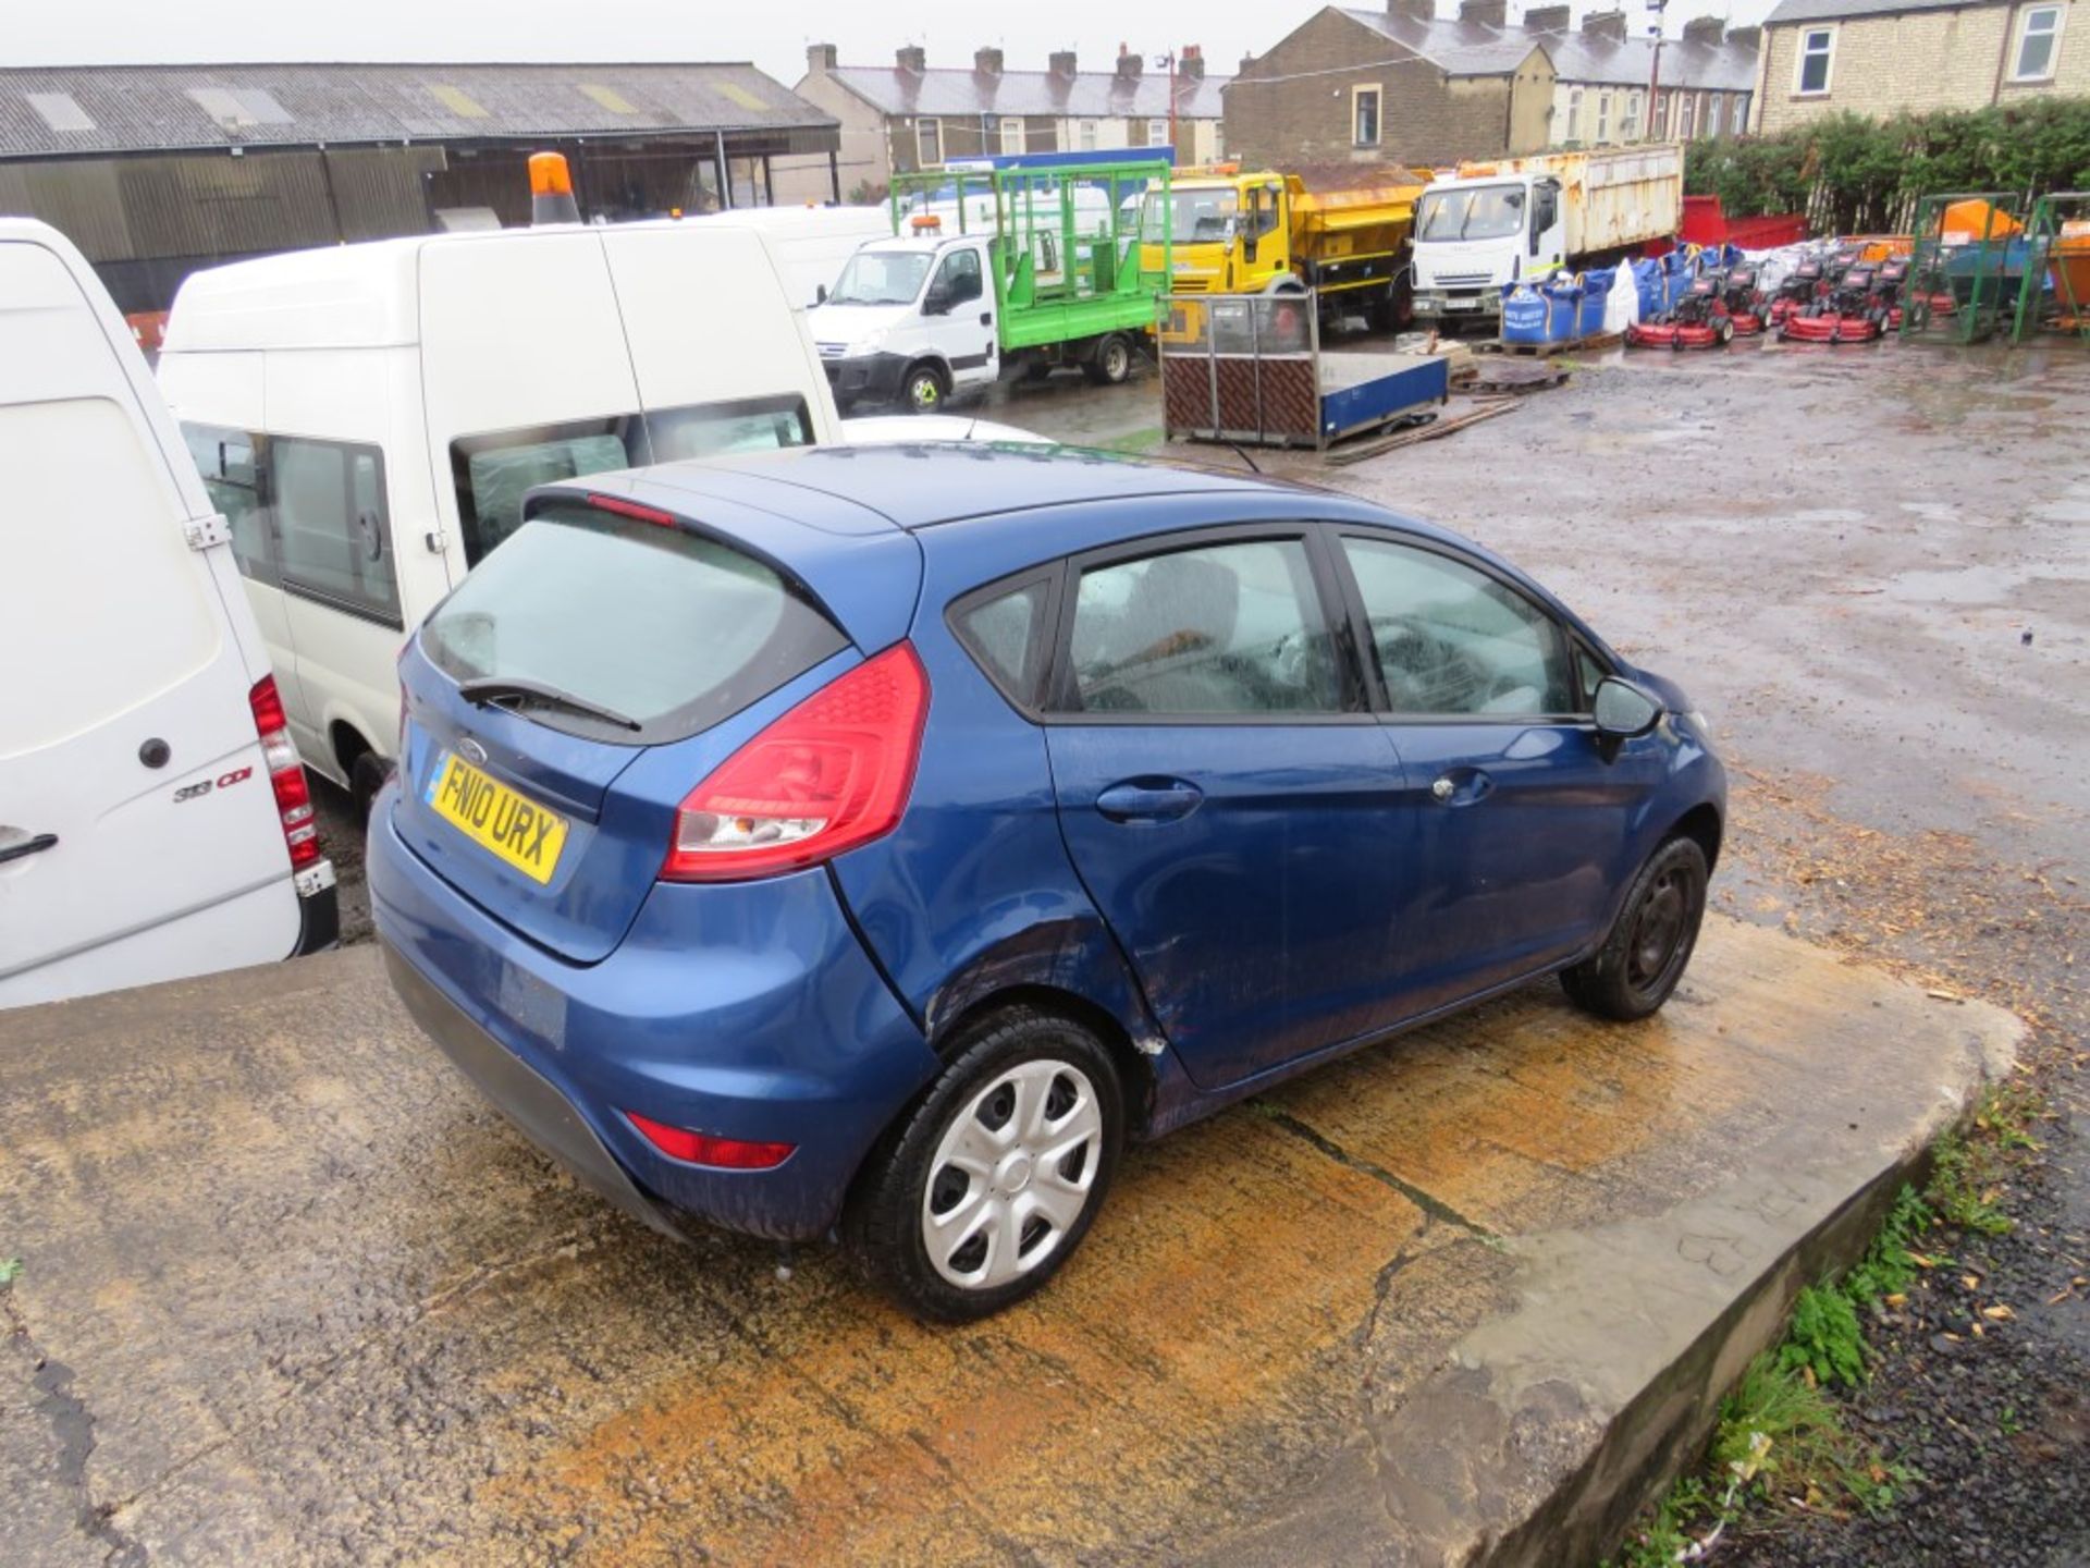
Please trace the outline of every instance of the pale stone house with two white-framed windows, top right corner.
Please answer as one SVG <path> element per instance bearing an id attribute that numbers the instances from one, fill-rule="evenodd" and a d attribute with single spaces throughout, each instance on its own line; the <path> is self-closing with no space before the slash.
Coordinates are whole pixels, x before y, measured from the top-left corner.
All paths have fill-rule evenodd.
<path id="1" fill-rule="evenodd" d="M 1779 0 L 1764 21 L 1756 130 L 1816 115 L 1985 109 L 2090 92 L 2082 0 Z"/>

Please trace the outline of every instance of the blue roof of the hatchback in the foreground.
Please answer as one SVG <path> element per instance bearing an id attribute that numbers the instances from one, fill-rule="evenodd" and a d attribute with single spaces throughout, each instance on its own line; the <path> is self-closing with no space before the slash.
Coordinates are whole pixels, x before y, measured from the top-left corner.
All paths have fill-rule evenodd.
<path id="1" fill-rule="evenodd" d="M 660 506 L 660 491 L 706 495 L 736 481 L 813 491 L 878 512 L 907 531 L 1039 506 L 1120 502 L 1143 495 L 1285 493 L 1304 487 L 1246 472 L 1141 462 L 1118 452 L 1005 441 L 903 441 L 892 445 L 790 447 L 658 464 L 631 475 L 633 493 Z"/>

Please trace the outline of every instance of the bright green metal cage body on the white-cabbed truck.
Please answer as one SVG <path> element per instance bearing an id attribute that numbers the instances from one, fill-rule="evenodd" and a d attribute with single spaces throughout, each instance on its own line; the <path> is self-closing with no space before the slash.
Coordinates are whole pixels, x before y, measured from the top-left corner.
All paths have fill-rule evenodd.
<path id="1" fill-rule="evenodd" d="M 957 232 L 968 234 L 968 197 L 993 201 L 995 228 L 986 243 L 1003 349 L 1035 349 L 1104 332 L 1145 332 L 1156 301 L 1168 289 L 1175 213 L 1162 203 L 1162 266 L 1141 270 L 1139 207 L 1127 220 L 1122 201 L 1135 190 L 1168 194 L 1170 165 L 1160 159 L 1124 163 L 1037 163 L 1007 169 L 936 169 L 892 180 L 892 232 L 905 234 L 915 199 L 928 205 L 945 186 L 957 188 Z M 1099 186 L 1110 199 L 1108 232 L 1081 230 L 1076 188 Z M 1127 222 L 1131 230 L 1127 232 Z M 1041 266 L 1045 263 L 1045 266 Z M 1043 278 L 1039 274 L 1045 274 Z"/>

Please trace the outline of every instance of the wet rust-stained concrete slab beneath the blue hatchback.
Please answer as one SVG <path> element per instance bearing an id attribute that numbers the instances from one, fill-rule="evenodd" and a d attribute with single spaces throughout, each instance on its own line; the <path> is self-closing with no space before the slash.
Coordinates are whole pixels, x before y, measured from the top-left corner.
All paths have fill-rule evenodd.
<path id="1" fill-rule="evenodd" d="M 0 1014 L 0 1537 L 1565 1562 L 2015 1029 L 1714 922 L 1662 1018 L 1532 987 L 1336 1064 L 1137 1152 L 1045 1298 L 926 1330 L 575 1190 L 370 949 Z"/>

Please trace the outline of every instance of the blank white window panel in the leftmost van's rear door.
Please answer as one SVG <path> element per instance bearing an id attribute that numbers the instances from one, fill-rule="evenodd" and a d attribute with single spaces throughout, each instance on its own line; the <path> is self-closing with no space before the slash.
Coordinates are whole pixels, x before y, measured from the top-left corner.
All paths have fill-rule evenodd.
<path id="1" fill-rule="evenodd" d="M 0 552 L 17 590 L 0 613 L 6 761 L 190 679 L 217 656 L 224 610 L 182 539 L 167 470 L 119 403 L 0 406 Z"/>

